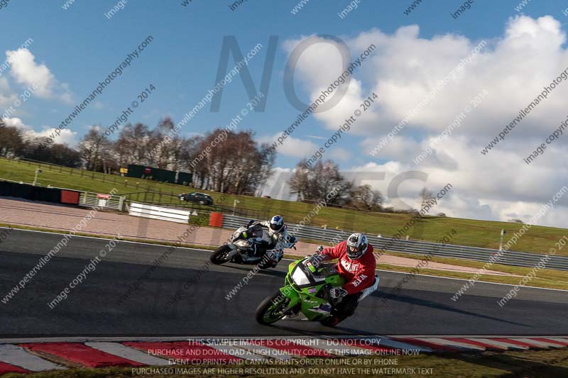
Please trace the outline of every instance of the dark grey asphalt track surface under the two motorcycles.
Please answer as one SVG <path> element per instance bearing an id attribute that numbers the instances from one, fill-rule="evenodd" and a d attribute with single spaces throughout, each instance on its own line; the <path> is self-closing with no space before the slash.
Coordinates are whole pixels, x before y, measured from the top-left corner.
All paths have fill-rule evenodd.
<path id="1" fill-rule="evenodd" d="M 62 238 L 13 230 L 0 243 L 0 299 Z M 252 266 L 212 265 L 177 304 L 163 306 L 209 261 L 208 251 L 176 249 L 124 303 L 128 287 L 167 246 L 120 242 L 94 272 L 54 309 L 48 307 L 108 240 L 75 237 L 7 303 L 0 302 L 0 337 L 255 336 L 255 335 L 568 335 L 568 292 L 525 287 L 498 306 L 512 287 L 477 283 L 459 301 L 464 281 L 415 276 L 395 294 L 404 274 L 378 272 L 379 289 L 337 328 L 317 322 L 279 321 L 261 326 L 254 311 L 283 285 L 290 261 L 256 274 L 232 299 L 225 296 Z M 383 303 L 383 299 L 386 302 Z"/>

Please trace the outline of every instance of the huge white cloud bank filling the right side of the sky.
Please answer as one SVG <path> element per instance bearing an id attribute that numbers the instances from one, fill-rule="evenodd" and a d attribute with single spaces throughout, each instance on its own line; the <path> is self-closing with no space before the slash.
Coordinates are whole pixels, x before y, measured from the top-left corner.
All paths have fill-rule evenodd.
<path id="1" fill-rule="evenodd" d="M 351 115 L 368 94 L 379 99 L 364 113 L 350 133 L 359 136 L 359 157 L 368 164 L 353 167 L 357 172 L 386 172 L 375 182 L 383 194 L 397 174 L 418 170 L 427 174 L 427 182 L 409 180 L 400 186 L 400 199 L 414 204 L 422 187 L 437 191 L 445 184 L 454 185 L 436 212 L 449 216 L 507 221 L 528 221 L 536 209 L 550 201 L 565 184 L 568 167 L 568 130 L 544 155 L 526 165 L 537 145 L 545 143 L 552 131 L 567 118 L 568 80 L 557 85 L 506 139 L 487 155 L 481 150 L 568 68 L 566 32 L 552 16 L 518 16 L 506 23 L 503 35 L 486 39 L 486 46 L 464 66 L 375 157 L 369 152 L 427 94 L 439 80 L 452 72 L 460 60 L 479 45 L 462 35 L 447 33 L 421 38 L 418 26 L 404 26 L 393 34 L 368 30 L 355 38 L 344 38 L 354 57 L 368 45 L 376 45 L 371 56 L 356 69 L 344 99 L 332 110 L 315 114 L 325 128 L 337 129 L 342 119 Z M 288 41 L 288 51 L 297 40 Z M 341 73 L 339 54 L 332 45 L 319 44 L 307 49 L 298 62 L 298 85 L 305 85 L 312 99 L 322 86 Z M 470 102 L 482 91 L 488 92 L 481 104 Z M 435 150 L 420 165 L 416 157 L 427 143 L 449 123 L 472 106 L 461 126 L 435 145 Z M 565 140 L 562 140 L 564 138 Z M 342 143 L 349 143 L 348 141 Z M 356 150 L 341 145 L 346 150 Z M 373 160 L 384 162 L 378 164 Z M 568 196 L 539 223 L 565 227 L 568 223 Z"/>

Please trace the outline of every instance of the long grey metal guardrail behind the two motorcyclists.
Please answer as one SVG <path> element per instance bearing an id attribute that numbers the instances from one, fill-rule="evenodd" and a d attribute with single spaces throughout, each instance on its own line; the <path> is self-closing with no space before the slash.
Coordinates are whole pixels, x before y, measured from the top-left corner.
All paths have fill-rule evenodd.
<path id="1" fill-rule="evenodd" d="M 238 228 L 249 222 L 249 218 L 240 216 L 223 216 L 223 228 Z M 295 232 L 297 228 L 297 232 Z M 288 231 L 293 235 L 304 239 L 324 241 L 327 243 L 338 243 L 345 240 L 352 231 L 329 230 L 324 228 L 298 226 L 288 224 Z M 468 247 L 465 245 L 442 245 L 439 243 L 424 242 L 421 240 L 396 240 L 391 238 L 378 238 L 367 235 L 369 242 L 375 250 L 390 250 L 393 252 L 413 253 L 417 255 L 432 255 L 437 257 L 453 257 L 457 259 L 474 260 L 480 262 L 490 262 L 491 257 L 499 251 L 491 248 Z M 514 265 L 518 267 L 534 267 L 544 255 L 537 253 L 505 251 L 501 257 L 495 261 L 496 264 Z M 568 271 L 568 257 L 551 255 L 546 262 L 548 269 L 558 269 Z"/>

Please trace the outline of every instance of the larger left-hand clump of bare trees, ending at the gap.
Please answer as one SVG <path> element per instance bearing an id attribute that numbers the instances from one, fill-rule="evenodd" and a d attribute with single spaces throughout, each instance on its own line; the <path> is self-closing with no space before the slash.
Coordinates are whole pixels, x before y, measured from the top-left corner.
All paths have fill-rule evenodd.
<path id="1" fill-rule="evenodd" d="M 257 143 L 250 130 L 236 133 L 215 129 L 189 138 L 173 130 L 175 125 L 169 117 L 160 120 L 155 128 L 128 123 L 116 140 L 111 140 L 102 127 L 93 126 L 76 148 L 70 148 L 64 143 L 49 143 L 48 138 L 33 137 L 26 130 L 7 126 L 0 120 L 0 156 L 108 174 L 119 172 L 119 168 L 129 164 L 180 170 L 194 175 L 193 186 L 198 189 L 229 194 L 253 195 L 272 173 L 275 150 Z M 222 143 L 215 139 L 220 133 L 226 135 Z M 173 138 L 166 138 L 168 135 Z M 198 164 L 192 165 L 196 159 Z"/>

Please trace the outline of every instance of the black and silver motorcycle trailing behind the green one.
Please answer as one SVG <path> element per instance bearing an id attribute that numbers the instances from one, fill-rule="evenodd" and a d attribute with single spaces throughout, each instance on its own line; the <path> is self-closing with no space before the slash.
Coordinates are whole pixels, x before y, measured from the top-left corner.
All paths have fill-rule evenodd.
<path id="1" fill-rule="evenodd" d="M 215 250 L 209 260 L 213 264 L 221 265 L 225 262 L 236 264 L 258 265 L 261 269 L 275 267 L 284 255 L 283 250 L 271 250 L 273 245 L 268 231 L 262 226 L 255 225 L 249 228 L 241 226 L 235 230 L 229 242 Z M 283 248 L 295 248 L 297 238 L 288 235 L 283 241 Z"/>

